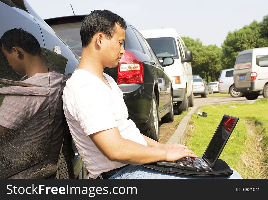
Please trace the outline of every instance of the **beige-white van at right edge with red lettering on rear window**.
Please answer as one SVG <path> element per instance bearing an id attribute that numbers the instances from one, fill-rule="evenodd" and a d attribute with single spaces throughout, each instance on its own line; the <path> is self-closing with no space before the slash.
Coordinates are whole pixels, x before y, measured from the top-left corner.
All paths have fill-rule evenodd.
<path id="1" fill-rule="evenodd" d="M 268 47 L 241 51 L 234 64 L 234 90 L 248 100 L 268 98 Z"/>

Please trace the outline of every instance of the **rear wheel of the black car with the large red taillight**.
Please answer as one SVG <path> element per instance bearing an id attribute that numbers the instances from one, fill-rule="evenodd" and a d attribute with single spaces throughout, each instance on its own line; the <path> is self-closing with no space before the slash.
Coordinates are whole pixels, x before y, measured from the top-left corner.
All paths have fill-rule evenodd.
<path id="1" fill-rule="evenodd" d="M 152 100 L 152 125 L 147 132 L 147 136 L 155 141 L 159 140 L 159 118 L 158 118 L 158 106 L 155 94 L 153 94 Z"/>

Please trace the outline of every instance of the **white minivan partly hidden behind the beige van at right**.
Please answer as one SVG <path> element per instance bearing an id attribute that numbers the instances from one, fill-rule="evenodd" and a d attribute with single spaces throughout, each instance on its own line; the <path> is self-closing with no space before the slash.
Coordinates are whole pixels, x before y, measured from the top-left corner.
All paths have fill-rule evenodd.
<path id="1" fill-rule="evenodd" d="M 234 90 L 234 68 L 223 69 L 219 75 L 219 93 L 230 93 L 232 97 L 240 97 L 243 93 Z"/>

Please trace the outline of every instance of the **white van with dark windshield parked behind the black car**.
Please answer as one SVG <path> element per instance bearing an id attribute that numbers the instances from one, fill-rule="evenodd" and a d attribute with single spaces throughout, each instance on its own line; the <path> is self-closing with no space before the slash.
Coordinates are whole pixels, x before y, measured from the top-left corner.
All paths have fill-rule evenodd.
<path id="1" fill-rule="evenodd" d="M 164 67 L 173 87 L 173 101 L 178 113 L 187 111 L 194 104 L 192 52 L 187 50 L 182 38 L 173 28 L 142 30 L 140 33 L 147 40 L 161 62 L 163 57 L 172 57 L 174 64 Z"/>

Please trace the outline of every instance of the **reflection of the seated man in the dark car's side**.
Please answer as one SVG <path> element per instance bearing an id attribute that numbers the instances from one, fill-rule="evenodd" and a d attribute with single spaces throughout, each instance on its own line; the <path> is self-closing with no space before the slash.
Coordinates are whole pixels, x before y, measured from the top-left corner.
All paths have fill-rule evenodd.
<path id="1" fill-rule="evenodd" d="M 0 102 L 1 178 L 16 162 L 34 163 L 42 157 L 49 114 L 56 113 L 62 75 L 49 70 L 38 40 L 25 30 L 6 31 L 0 46 L 9 65 L 25 79 L 21 82 L 0 79 L 0 96 L 5 95 L 2 105 Z M 16 153 L 15 147 L 19 147 Z"/>

